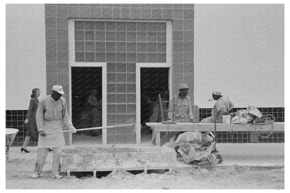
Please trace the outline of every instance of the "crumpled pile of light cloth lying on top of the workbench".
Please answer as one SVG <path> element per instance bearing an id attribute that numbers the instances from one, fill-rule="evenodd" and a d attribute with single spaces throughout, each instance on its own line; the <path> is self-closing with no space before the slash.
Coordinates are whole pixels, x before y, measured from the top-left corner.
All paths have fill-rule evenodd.
<path id="1" fill-rule="evenodd" d="M 233 116 L 231 123 L 245 125 L 253 121 L 253 119 L 257 121 L 257 119 L 261 118 L 262 113 L 256 107 L 249 106 L 247 109 L 238 110 L 229 114 L 229 116 Z"/>

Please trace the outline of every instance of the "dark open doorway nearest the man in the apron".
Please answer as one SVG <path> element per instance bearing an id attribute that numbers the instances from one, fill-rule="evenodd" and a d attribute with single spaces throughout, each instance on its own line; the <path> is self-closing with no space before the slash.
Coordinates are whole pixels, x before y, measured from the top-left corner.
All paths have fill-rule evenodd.
<path id="1" fill-rule="evenodd" d="M 72 121 L 77 129 L 102 126 L 102 68 L 72 67 Z M 97 137 L 102 130 L 77 132 Z"/>

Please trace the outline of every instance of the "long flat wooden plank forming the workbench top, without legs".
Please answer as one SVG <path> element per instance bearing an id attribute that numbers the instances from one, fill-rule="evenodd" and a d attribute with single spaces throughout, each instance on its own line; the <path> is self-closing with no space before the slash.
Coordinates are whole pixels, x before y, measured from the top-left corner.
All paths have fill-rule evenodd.
<path id="1" fill-rule="evenodd" d="M 214 123 L 176 123 L 176 124 L 162 124 L 162 123 L 146 123 L 147 126 L 154 126 L 155 131 L 159 132 L 182 132 L 182 131 L 214 131 Z M 271 131 L 272 124 L 256 125 L 257 131 Z M 217 131 L 255 131 L 254 125 L 239 125 L 239 124 L 223 124 L 217 123 Z M 274 131 L 284 132 L 284 123 L 274 123 Z"/>

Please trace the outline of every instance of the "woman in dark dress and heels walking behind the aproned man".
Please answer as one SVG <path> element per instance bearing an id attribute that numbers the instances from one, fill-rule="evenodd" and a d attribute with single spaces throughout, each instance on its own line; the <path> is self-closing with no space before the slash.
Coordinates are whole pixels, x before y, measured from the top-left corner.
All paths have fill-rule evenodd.
<path id="1" fill-rule="evenodd" d="M 29 109 L 26 114 L 26 119 L 24 121 L 24 124 L 27 125 L 28 128 L 26 132 L 26 137 L 24 139 L 23 146 L 21 148 L 21 152 L 24 151 L 25 153 L 29 153 L 30 151 L 26 149 L 26 146 L 29 143 L 29 140 L 31 137 L 36 138 L 38 137 L 38 130 L 36 125 L 36 110 L 38 107 L 38 97 L 40 96 L 40 89 L 39 88 L 33 88 L 32 94 L 31 94 L 31 100 L 29 104 Z"/>

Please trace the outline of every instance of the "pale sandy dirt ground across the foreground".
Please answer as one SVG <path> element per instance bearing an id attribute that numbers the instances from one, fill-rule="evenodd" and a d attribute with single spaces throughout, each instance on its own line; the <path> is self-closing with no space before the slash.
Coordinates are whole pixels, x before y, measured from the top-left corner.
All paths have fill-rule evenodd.
<path id="1" fill-rule="evenodd" d="M 276 146 L 277 149 L 281 149 Z M 272 144 L 271 147 L 275 148 L 275 145 Z M 232 148 L 233 146 L 229 149 Z M 264 148 L 268 147 L 264 146 Z M 222 146 L 220 149 L 222 149 L 220 153 L 224 154 L 225 162 L 215 168 L 179 167 L 170 172 L 159 171 L 136 175 L 127 171 L 114 171 L 102 178 L 64 177 L 56 180 L 52 179 L 51 174 L 52 153 L 47 156 L 47 163 L 43 169 L 44 175 L 38 179 L 31 179 L 36 148 L 29 148 L 31 153 L 20 153 L 19 148 L 11 148 L 10 158 L 6 162 L 6 189 L 284 189 L 284 156 L 279 158 L 277 150 L 276 160 L 273 156 L 269 157 L 272 157 L 276 163 L 279 162 L 282 167 L 273 164 L 275 167 L 261 168 L 250 167 L 250 162 L 243 162 L 243 159 L 236 162 L 238 157 L 232 151 L 227 152 L 227 148 Z M 281 153 L 284 153 L 284 148 Z M 229 155 L 233 158 L 231 159 Z M 250 157 L 250 154 L 245 157 Z M 261 155 L 256 155 L 254 158 L 261 165 L 259 159 Z M 269 159 L 264 157 L 263 160 Z M 268 166 L 271 164 L 262 163 L 267 163 Z"/>

